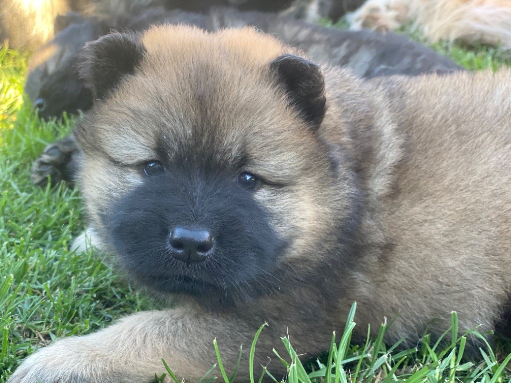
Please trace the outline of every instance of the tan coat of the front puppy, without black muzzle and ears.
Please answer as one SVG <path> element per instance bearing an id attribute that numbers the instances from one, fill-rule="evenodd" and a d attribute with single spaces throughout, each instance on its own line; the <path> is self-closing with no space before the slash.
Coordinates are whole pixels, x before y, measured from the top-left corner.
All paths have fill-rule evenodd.
<path id="1" fill-rule="evenodd" d="M 219 156 L 235 158 L 245 146 L 251 169 L 290 185 L 255 194 L 275 230 L 297 238 L 285 254 L 282 291 L 215 311 L 182 298 L 179 308 L 57 341 L 9 383 L 149 381 L 164 372 L 161 358 L 178 378 L 195 381 L 216 360 L 214 338 L 228 370 L 243 345 L 244 381 L 250 342 L 264 322 L 255 365 L 273 359 L 269 370 L 284 374 L 272 352 L 283 353 L 279 337 L 289 334 L 304 358 L 316 355 L 333 330 L 342 332 L 355 300 L 359 340 L 367 324 L 374 335 L 386 319 L 394 319 L 388 342 L 405 335 L 415 342 L 435 319 L 429 331 L 438 336 L 451 310 L 460 330 L 494 328 L 511 289 L 509 70 L 364 82 L 324 67 L 327 112 L 314 133 L 270 73 L 272 60 L 296 53 L 273 38 L 251 29 L 159 27 L 142 42 L 147 54 L 135 75 L 77 130 L 92 227 L 106 235 L 101 212 L 142 182 L 130 164 L 155 158 L 158 137 L 173 142 L 190 126 L 216 126 L 204 137 L 216 140 Z M 354 212 L 354 262 L 339 266 L 335 248 L 304 256 L 328 240 L 334 215 Z"/>

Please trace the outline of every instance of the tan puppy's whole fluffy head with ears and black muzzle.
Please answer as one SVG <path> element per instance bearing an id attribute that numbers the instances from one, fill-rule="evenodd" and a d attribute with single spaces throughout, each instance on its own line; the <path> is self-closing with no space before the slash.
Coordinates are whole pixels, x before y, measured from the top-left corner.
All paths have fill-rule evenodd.
<path id="1" fill-rule="evenodd" d="M 317 65 L 252 29 L 167 26 L 88 44 L 80 70 L 82 192 L 135 279 L 236 301 L 338 256 L 354 188 Z"/>

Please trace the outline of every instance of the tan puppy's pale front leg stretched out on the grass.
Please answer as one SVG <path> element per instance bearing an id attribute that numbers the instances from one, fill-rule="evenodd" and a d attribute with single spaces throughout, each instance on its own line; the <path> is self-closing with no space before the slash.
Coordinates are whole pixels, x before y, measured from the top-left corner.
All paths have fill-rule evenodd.
<path id="1" fill-rule="evenodd" d="M 142 312 L 96 333 L 42 348 L 21 364 L 8 383 L 143 383 L 165 372 L 161 358 L 179 379 L 193 382 L 216 362 L 215 337 L 228 371 L 243 345 L 246 351 L 237 380 L 248 380 L 247 355 L 255 331 L 234 317 L 204 314 L 196 307 Z M 273 340 L 260 343 L 265 350 L 254 366 L 267 363 Z M 219 371 L 215 374 L 219 376 Z"/>

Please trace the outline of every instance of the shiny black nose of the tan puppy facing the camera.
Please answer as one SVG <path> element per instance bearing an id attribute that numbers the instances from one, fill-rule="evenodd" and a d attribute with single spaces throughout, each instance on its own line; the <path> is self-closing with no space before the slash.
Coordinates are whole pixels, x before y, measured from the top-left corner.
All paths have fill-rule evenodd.
<path id="1" fill-rule="evenodd" d="M 170 233 L 169 243 L 174 258 L 190 265 L 207 258 L 207 253 L 213 248 L 214 240 L 207 230 L 176 227 Z"/>

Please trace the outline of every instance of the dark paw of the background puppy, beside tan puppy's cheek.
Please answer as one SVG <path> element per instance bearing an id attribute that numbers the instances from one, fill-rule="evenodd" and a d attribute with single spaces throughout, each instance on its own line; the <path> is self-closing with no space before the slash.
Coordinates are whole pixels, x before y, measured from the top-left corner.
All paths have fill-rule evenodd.
<path id="1" fill-rule="evenodd" d="M 73 155 L 78 145 L 73 136 L 67 136 L 47 146 L 32 166 L 31 179 L 36 185 L 45 187 L 48 181 L 57 184 L 63 180 L 71 181 L 74 176 Z"/>

